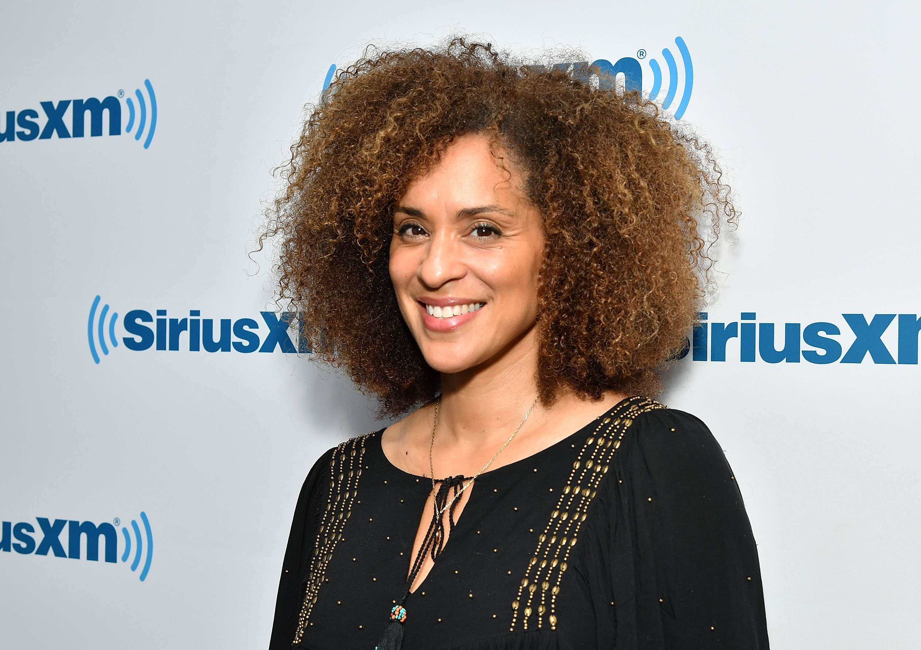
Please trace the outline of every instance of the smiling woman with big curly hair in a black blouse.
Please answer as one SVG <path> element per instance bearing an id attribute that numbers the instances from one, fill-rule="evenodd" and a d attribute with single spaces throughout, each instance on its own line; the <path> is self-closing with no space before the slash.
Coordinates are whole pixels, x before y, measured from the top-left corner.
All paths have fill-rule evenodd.
<path id="1" fill-rule="evenodd" d="M 271 647 L 766 648 L 726 458 L 649 397 L 735 215 L 706 145 L 458 39 L 341 72 L 292 152 L 282 295 L 402 419 L 310 470 Z"/>

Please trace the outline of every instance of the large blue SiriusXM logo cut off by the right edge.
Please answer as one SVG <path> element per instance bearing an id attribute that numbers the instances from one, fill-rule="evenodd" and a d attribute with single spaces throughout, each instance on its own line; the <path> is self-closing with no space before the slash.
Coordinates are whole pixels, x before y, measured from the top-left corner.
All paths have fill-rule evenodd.
<path id="1" fill-rule="evenodd" d="M 784 323 L 782 327 L 755 322 L 757 315 L 753 311 L 741 312 L 740 319 L 733 322 L 707 322 L 705 312 L 699 316 L 701 322 L 680 358 L 690 352 L 693 361 L 726 361 L 731 348 L 733 352 L 738 349 L 743 363 L 761 359 L 768 364 L 799 364 L 800 360 L 810 364 L 861 364 L 868 356 L 874 364 L 918 363 L 921 319 L 917 314 L 873 314 L 869 318 L 864 314 L 842 314 L 844 323 Z M 883 342 L 893 322 L 897 330 L 895 356 Z M 838 337 L 848 330 L 855 338 L 845 350 Z"/>

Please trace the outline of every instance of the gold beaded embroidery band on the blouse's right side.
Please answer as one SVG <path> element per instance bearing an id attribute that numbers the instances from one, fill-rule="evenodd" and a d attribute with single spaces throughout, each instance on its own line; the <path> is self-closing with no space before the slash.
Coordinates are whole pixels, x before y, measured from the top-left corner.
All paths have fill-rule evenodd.
<path id="1" fill-rule="evenodd" d="M 550 521 L 538 537 L 537 550 L 528 561 L 518 597 L 512 601 L 509 632 L 515 632 L 519 614 L 525 630 L 531 617 L 537 619 L 537 627 L 541 629 L 545 616 L 550 628 L 556 629 L 556 598 L 568 568 L 566 562 L 576 546 L 579 528 L 588 517 L 589 505 L 598 493 L 601 479 L 608 472 L 614 452 L 621 446 L 624 434 L 638 415 L 665 408 L 656 400 L 630 398 L 616 412 L 602 418 L 595 432 L 589 435 L 573 462 L 569 480 L 550 513 Z"/>

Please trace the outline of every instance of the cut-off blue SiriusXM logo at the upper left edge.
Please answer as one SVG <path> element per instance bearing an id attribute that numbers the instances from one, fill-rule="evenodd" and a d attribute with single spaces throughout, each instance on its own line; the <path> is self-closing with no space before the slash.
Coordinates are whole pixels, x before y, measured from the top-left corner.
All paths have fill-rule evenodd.
<path id="1" fill-rule="evenodd" d="M 124 126 L 125 133 L 132 133 L 134 140 L 144 138 L 144 148 L 150 146 L 157 130 L 157 95 L 149 79 L 144 80 L 146 98 L 140 88 L 134 90 L 134 99 L 128 97 L 125 104 L 128 107 L 128 123 Z M 122 134 L 122 98 L 124 90 L 118 91 L 118 97 L 110 95 L 101 101 L 95 97 L 89 99 L 61 99 L 56 104 L 53 101 L 42 101 L 41 110 L 44 120 L 41 121 L 39 111 L 35 109 L 7 110 L 6 124 L 0 120 L 0 142 L 22 140 L 50 140 L 52 135 L 58 138 L 82 138 L 87 133 L 87 113 L 89 114 L 89 135 L 95 137 L 102 135 L 102 118 L 108 115 L 108 133 L 110 135 Z M 148 107 L 149 106 L 149 111 Z M 70 120 L 67 120 L 69 111 Z M 70 130 L 67 124 L 70 123 Z M 17 129 L 18 127 L 18 129 Z M 146 133 L 146 137 L 145 137 Z"/>

